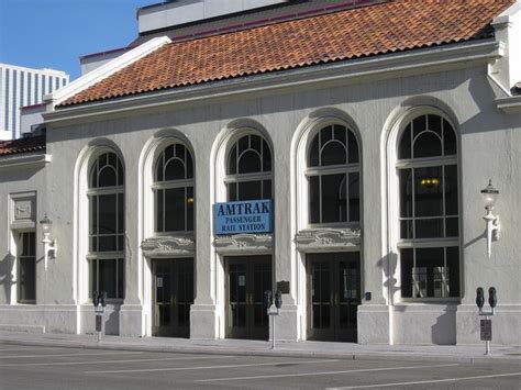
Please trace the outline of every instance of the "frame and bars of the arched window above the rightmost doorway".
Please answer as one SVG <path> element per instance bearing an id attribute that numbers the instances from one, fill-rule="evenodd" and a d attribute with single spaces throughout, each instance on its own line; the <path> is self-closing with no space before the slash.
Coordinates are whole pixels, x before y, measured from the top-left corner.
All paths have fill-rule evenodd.
<path id="1" fill-rule="evenodd" d="M 332 142 L 337 142 L 335 140 L 330 140 L 326 141 L 324 144 L 322 144 L 319 141 L 319 164 L 318 166 L 310 166 L 309 160 L 310 160 L 310 153 L 311 148 L 313 147 L 313 142 L 315 141 L 315 137 L 321 137 L 321 133 L 325 131 L 326 129 L 332 127 L 332 129 L 341 129 L 343 127 L 345 132 L 345 164 L 335 164 L 335 165 L 323 165 L 322 164 L 322 155 L 321 153 L 323 152 L 324 147 L 328 146 L 329 143 Z M 351 136 L 348 136 L 348 134 Z M 351 140 L 350 140 L 351 138 Z M 320 138 L 319 138 L 320 140 Z M 356 154 L 357 154 L 357 159 L 356 161 L 350 163 L 350 156 L 348 156 L 348 148 L 350 142 L 355 142 L 356 144 Z M 307 209 L 308 209 L 308 219 L 307 219 L 307 225 L 309 227 L 321 227 L 321 226 L 329 226 L 329 227 L 342 227 L 342 226 L 350 226 L 350 225 L 359 225 L 361 223 L 361 214 L 362 214 L 362 177 L 361 177 L 361 148 L 359 148 L 359 141 L 357 137 L 357 134 L 355 131 L 353 131 L 352 126 L 350 126 L 347 123 L 343 123 L 340 121 L 335 120 L 330 120 L 330 121 L 323 121 L 319 123 L 317 126 L 314 126 L 314 130 L 309 134 L 308 142 L 306 145 L 306 167 L 304 167 L 304 177 L 306 177 L 306 182 L 307 182 Z M 350 212 L 350 191 L 348 188 L 346 189 L 346 197 L 345 197 L 345 221 L 336 221 L 336 222 L 324 222 L 323 221 L 323 208 L 322 208 L 322 191 L 321 191 L 321 178 L 331 176 L 331 175 L 345 175 L 344 178 L 344 186 L 345 186 L 345 180 L 348 180 L 350 176 L 357 175 L 358 176 L 358 193 L 357 193 L 357 212 L 355 215 L 353 215 L 353 210 Z M 312 202 L 311 202 L 311 180 L 312 178 L 318 177 L 319 178 L 319 222 L 312 222 L 312 215 L 313 211 L 311 210 L 312 208 Z"/>

